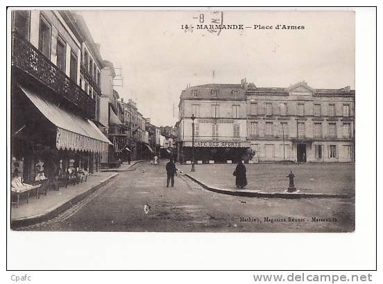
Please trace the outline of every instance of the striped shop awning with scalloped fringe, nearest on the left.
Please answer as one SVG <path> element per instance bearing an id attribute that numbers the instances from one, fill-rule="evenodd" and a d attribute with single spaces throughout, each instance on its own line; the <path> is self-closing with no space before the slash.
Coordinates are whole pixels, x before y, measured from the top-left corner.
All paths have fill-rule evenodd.
<path id="1" fill-rule="evenodd" d="M 36 108 L 57 127 L 57 149 L 101 152 L 106 144 L 112 144 L 89 119 L 56 106 L 26 87 L 19 87 Z"/>

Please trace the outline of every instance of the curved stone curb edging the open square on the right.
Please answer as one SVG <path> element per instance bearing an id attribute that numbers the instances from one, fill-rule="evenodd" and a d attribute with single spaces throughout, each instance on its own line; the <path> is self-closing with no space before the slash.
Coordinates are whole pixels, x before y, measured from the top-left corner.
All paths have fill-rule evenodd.
<path id="1" fill-rule="evenodd" d="M 350 198 L 349 194 L 325 194 L 325 193 L 284 193 L 284 192 L 255 192 L 248 190 L 224 190 L 222 188 L 211 187 L 210 185 L 206 185 L 202 181 L 190 176 L 189 174 L 185 174 L 191 181 L 198 183 L 205 190 L 209 190 L 211 192 L 216 192 L 220 194 L 233 195 L 237 197 L 263 197 L 263 198 L 282 198 L 282 199 L 303 199 L 303 198 L 341 198 L 348 199 Z"/>

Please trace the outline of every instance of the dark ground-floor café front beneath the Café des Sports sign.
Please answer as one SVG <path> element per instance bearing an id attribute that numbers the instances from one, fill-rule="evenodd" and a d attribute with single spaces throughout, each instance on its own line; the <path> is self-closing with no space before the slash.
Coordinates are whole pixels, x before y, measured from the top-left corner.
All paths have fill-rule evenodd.
<path id="1" fill-rule="evenodd" d="M 194 141 L 194 160 L 202 163 L 233 163 L 239 160 L 248 160 L 250 142 L 244 141 Z M 180 162 L 185 163 L 192 160 L 192 142 L 182 143 L 180 151 Z"/>

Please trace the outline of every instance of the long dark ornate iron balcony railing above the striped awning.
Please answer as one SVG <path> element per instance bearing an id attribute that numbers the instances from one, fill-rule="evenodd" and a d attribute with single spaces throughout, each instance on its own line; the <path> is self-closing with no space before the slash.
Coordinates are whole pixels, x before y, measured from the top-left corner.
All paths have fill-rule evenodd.
<path id="1" fill-rule="evenodd" d="M 95 115 L 96 101 L 71 81 L 56 65 L 33 44 L 18 33 L 12 33 L 12 66 L 33 76 L 37 81 L 74 103 L 89 118 Z"/>

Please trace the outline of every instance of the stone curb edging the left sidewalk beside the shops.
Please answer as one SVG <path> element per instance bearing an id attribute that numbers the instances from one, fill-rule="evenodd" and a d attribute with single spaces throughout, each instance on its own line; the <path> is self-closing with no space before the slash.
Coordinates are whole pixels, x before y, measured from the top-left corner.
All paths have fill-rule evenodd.
<path id="1" fill-rule="evenodd" d="M 42 213 L 40 215 L 35 215 L 32 217 L 10 220 L 10 228 L 13 230 L 15 228 L 19 228 L 22 226 L 30 226 L 30 225 L 33 225 L 36 223 L 41 223 L 41 222 L 44 222 L 46 220 L 52 219 L 53 217 L 56 217 L 57 215 L 64 212 L 68 208 L 71 208 L 71 206 L 74 206 L 74 204 L 78 203 L 79 201 L 81 201 L 82 199 L 87 197 L 88 195 L 90 195 L 93 192 L 95 192 L 96 190 L 98 190 L 101 186 L 105 185 L 112 178 L 114 178 L 116 176 L 118 176 L 117 173 L 112 174 L 111 176 L 108 176 L 107 178 L 104 178 L 103 180 L 100 181 L 100 183 L 98 185 L 94 185 L 94 187 L 91 187 L 89 190 L 87 190 L 81 194 L 78 194 L 76 197 L 69 199 L 68 201 L 66 201 L 62 205 L 54 208 L 53 210 L 51 210 L 49 212 L 45 212 L 45 213 Z"/>

